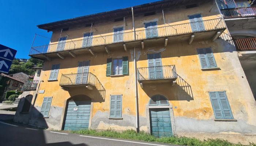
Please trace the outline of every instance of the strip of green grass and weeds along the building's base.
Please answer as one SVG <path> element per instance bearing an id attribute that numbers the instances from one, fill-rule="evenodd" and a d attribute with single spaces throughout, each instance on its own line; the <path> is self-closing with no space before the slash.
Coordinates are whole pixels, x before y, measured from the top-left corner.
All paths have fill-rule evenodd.
<path id="1" fill-rule="evenodd" d="M 197 138 L 188 138 L 188 137 L 163 137 L 155 138 L 153 135 L 150 135 L 146 132 L 136 133 L 135 130 L 125 130 L 123 132 L 117 132 L 114 130 L 78 130 L 71 131 L 72 133 L 77 134 L 89 134 L 102 137 L 112 137 L 112 138 L 123 138 L 123 139 L 133 139 L 146 142 L 161 142 L 161 143 L 170 143 L 175 145 L 187 145 L 187 146 L 256 146 L 254 143 L 249 145 L 234 144 L 223 139 L 207 139 L 200 141 Z"/>

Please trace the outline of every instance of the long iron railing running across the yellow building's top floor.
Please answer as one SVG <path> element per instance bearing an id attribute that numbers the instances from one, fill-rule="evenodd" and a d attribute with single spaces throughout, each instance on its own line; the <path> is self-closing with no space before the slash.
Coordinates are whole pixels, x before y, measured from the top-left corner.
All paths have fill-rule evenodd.
<path id="1" fill-rule="evenodd" d="M 199 27 L 199 25 L 200 25 L 200 29 L 198 28 L 195 30 L 195 27 L 197 26 Z M 193 26 L 193 29 L 191 26 Z M 130 32 L 124 32 L 120 34 L 112 34 L 112 35 L 105 35 L 105 36 L 100 35 L 99 37 L 92 36 L 91 38 L 89 37 L 88 39 L 80 39 L 75 41 L 67 40 L 66 42 L 63 42 L 63 43 L 53 43 L 49 45 L 35 46 L 35 47 L 31 47 L 29 55 L 58 52 L 63 50 L 80 49 L 85 47 L 108 45 L 112 43 L 129 42 L 129 41 L 143 40 L 143 39 L 150 39 L 150 38 L 167 37 L 167 36 L 180 35 L 180 34 L 189 34 L 189 33 L 200 32 L 200 31 L 218 30 L 222 28 L 225 28 L 225 25 L 221 18 L 204 20 L 204 21 L 193 22 L 193 23 L 176 24 L 176 25 L 166 24 L 166 26 L 164 27 L 137 30 L 135 31 L 135 38 L 133 38 L 134 37 L 133 31 L 130 31 Z"/>

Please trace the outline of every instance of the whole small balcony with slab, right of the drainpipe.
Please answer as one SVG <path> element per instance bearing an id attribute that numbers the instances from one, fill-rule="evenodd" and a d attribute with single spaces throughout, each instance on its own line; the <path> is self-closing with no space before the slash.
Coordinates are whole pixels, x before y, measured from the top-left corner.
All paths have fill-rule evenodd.
<path id="1" fill-rule="evenodd" d="M 177 79 L 175 65 L 153 66 L 138 68 L 138 81 L 143 88 L 143 83 L 173 83 Z"/>

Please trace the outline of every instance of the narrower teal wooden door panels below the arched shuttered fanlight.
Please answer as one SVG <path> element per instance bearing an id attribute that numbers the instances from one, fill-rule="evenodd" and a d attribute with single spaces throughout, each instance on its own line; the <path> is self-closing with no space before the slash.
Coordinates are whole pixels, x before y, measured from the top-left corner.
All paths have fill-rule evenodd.
<path id="1" fill-rule="evenodd" d="M 150 109 L 150 131 L 155 137 L 173 136 L 169 108 Z"/>

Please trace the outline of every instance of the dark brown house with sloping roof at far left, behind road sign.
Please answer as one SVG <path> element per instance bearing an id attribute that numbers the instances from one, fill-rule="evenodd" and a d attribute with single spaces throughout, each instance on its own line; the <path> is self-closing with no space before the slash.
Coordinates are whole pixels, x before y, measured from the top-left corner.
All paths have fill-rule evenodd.
<path id="1" fill-rule="evenodd" d="M 16 89 L 20 90 L 24 84 L 24 81 L 19 80 L 20 78 L 8 76 L 7 74 L 4 74 L 4 73 L 1 73 L 1 76 L 8 78 L 6 81 L 6 88 L 4 90 L 4 93 L 0 98 L 0 101 L 3 101 L 5 99 L 6 92 L 10 90 L 16 90 Z"/>

